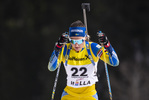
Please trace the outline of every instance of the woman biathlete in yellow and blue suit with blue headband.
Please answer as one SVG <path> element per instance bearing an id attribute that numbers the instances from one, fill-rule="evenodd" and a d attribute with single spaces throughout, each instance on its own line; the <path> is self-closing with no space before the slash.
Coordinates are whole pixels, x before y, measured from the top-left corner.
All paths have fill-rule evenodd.
<path id="1" fill-rule="evenodd" d="M 67 74 L 67 86 L 61 100 L 98 100 L 95 83 L 99 59 L 111 66 L 118 66 L 119 60 L 107 36 L 98 36 L 99 44 L 88 41 L 86 27 L 78 20 L 69 27 L 69 33 L 62 34 L 50 57 L 48 69 L 55 71 L 63 62 Z M 101 44 L 104 44 L 105 56 Z"/>

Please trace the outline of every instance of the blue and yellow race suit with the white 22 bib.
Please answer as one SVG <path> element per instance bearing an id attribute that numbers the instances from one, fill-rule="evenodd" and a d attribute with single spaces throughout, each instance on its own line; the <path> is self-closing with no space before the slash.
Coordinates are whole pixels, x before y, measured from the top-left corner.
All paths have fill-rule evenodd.
<path id="1" fill-rule="evenodd" d="M 67 86 L 61 100 L 98 100 L 95 83 L 98 81 L 96 74 L 99 59 L 111 66 L 119 65 L 117 54 L 111 45 L 104 52 L 105 57 L 99 44 L 87 41 L 79 52 L 70 43 L 62 47 L 60 52 L 53 51 L 48 69 L 54 71 L 63 62 L 67 73 Z"/>

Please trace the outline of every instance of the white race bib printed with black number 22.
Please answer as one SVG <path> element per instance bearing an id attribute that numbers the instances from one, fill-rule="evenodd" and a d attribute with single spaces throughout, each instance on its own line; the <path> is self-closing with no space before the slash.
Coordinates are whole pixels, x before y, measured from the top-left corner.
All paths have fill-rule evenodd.
<path id="1" fill-rule="evenodd" d="M 97 71 L 92 64 L 88 65 L 67 65 L 67 85 L 75 88 L 91 86 L 98 81 Z"/>

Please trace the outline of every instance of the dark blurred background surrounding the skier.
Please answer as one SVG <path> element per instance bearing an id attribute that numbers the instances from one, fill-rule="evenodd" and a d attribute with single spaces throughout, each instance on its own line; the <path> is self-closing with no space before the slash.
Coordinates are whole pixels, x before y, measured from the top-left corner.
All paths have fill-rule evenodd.
<path id="1" fill-rule="evenodd" d="M 96 32 L 108 36 L 120 65 L 110 67 L 113 100 L 149 100 L 149 1 L 148 0 L 1 0 L 0 1 L 0 100 L 50 100 L 55 72 L 47 69 L 58 37 L 87 13 L 91 40 Z M 99 62 L 97 91 L 109 100 L 103 62 Z M 66 85 L 63 66 L 55 100 Z"/>

